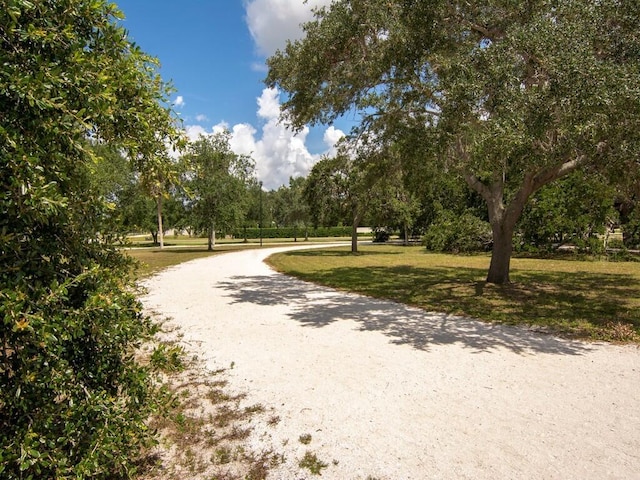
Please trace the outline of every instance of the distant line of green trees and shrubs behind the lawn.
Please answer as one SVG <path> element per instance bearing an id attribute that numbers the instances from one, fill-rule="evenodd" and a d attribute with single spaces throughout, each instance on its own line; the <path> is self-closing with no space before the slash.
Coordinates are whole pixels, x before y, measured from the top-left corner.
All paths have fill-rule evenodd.
<path id="1" fill-rule="evenodd" d="M 109 202 L 113 231 L 147 232 L 158 242 L 157 205 L 138 175 L 116 151 L 95 147 L 98 168 L 91 177 L 96 192 Z M 362 162 L 342 153 L 323 158 L 305 177 L 277 190 L 262 191 L 249 157 L 234 154 L 228 133 L 201 137 L 175 161 L 177 181 L 163 192 L 163 228 L 204 236 L 209 248 L 216 233 L 236 239 L 336 236 L 320 227 L 341 226 L 350 236 L 371 227 L 374 240 L 391 235 L 430 250 L 488 251 L 492 233 L 480 195 L 459 176 L 444 175 L 426 164 L 410 174 L 392 158 Z M 392 171 L 392 175 L 383 170 Z M 514 249 L 550 252 L 571 245 L 640 247 L 640 196 L 604 175 L 576 171 L 545 185 L 523 208 L 514 227 Z M 622 239 L 608 241 L 615 230 Z M 358 240 L 358 236 L 354 237 Z M 357 246 L 354 247 L 357 249 Z"/>

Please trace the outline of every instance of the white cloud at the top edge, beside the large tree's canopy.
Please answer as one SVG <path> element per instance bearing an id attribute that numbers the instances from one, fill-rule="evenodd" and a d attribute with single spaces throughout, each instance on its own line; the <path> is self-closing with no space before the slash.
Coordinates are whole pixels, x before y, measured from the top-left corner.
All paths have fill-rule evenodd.
<path id="1" fill-rule="evenodd" d="M 287 40 L 302 36 L 300 25 L 311 20 L 312 8 L 331 4 L 331 0 L 248 0 L 245 3 L 247 26 L 258 52 L 270 56 L 282 49 Z"/>

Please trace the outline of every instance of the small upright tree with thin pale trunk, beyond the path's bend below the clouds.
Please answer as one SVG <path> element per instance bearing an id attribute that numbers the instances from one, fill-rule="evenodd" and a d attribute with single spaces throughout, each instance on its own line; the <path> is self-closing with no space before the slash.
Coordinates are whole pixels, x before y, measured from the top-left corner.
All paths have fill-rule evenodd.
<path id="1" fill-rule="evenodd" d="M 229 146 L 229 132 L 201 136 L 188 146 L 184 186 L 189 196 L 192 225 L 207 233 L 208 249 L 215 246 L 217 229 L 232 229 L 244 218 L 253 161 Z"/>

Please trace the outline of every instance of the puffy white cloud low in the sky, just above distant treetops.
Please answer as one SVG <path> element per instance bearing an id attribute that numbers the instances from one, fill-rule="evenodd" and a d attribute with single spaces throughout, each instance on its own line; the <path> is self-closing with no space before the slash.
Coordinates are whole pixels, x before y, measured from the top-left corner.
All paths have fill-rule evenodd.
<path id="1" fill-rule="evenodd" d="M 189 139 L 199 135 L 212 134 L 222 130 L 231 132 L 231 149 L 239 155 L 250 155 L 256 162 L 258 179 L 271 190 L 289 184 L 289 177 L 307 176 L 322 155 L 335 153 L 336 142 L 344 133 L 331 126 L 324 132 L 326 150 L 311 153 L 306 145 L 309 129 L 299 133 L 287 129 L 279 122 L 280 99 L 278 91 L 265 88 L 257 99 L 258 116 L 264 120 L 261 131 L 248 123 L 239 123 L 229 128 L 221 122 L 209 132 L 199 125 L 186 127 Z"/>

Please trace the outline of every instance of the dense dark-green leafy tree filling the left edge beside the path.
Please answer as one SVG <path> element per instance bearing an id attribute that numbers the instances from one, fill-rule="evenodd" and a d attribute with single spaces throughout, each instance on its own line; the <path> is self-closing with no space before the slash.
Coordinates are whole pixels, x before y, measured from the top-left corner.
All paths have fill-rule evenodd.
<path id="1" fill-rule="evenodd" d="M 175 136 L 154 59 L 104 0 L 0 8 L 0 476 L 132 475 L 154 400 L 150 325 L 92 189 L 108 143 L 137 171 Z M 119 161 L 119 160 L 118 160 Z"/>

